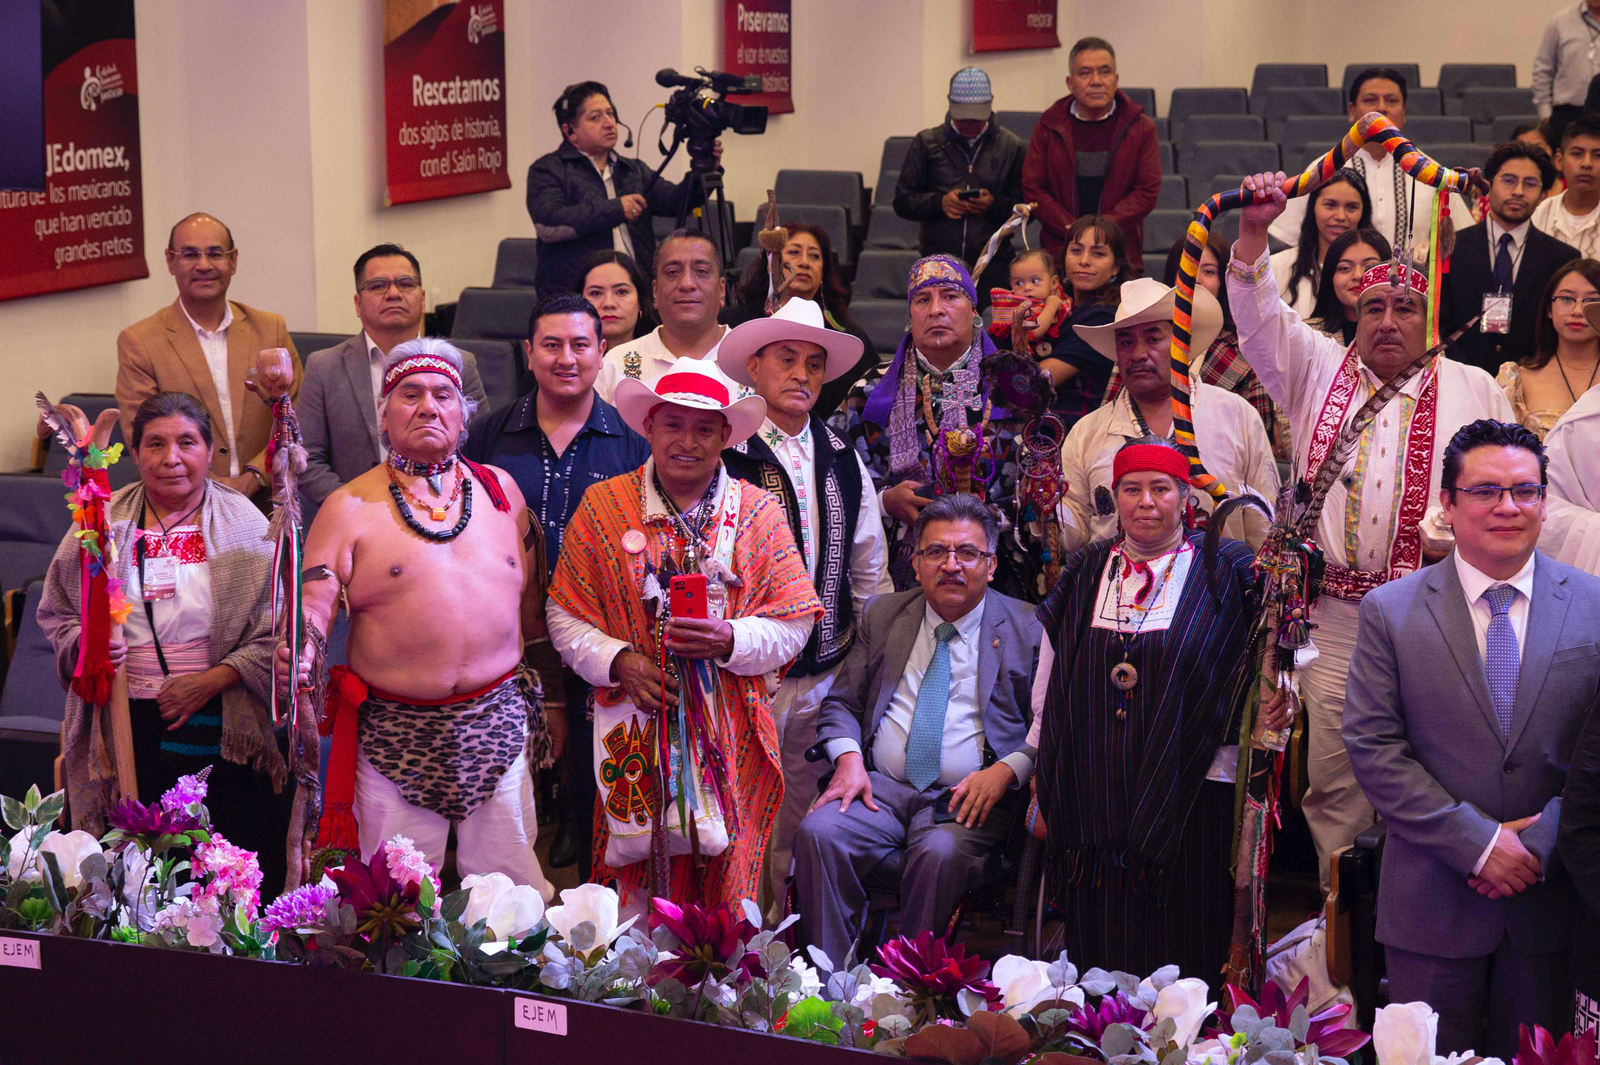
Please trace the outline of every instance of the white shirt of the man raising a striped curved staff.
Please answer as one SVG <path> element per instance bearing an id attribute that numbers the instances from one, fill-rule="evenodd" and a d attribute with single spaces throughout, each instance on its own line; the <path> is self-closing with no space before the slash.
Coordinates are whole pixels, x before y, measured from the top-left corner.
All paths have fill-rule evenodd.
<path id="1" fill-rule="evenodd" d="M 1294 440 L 1294 477 L 1304 477 L 1312 429 L 1344 366 L 1346 349 L 1301 321 L 1299 315 L 1278 297 L 1266 262 L 1266 253 L 1253 264 L 1242 264 L 1235 257 L 1229 265 L 1227 297 L 1238 326 L 1238 350 L 1256 371 L 1267 395 L 1288 416 Z M 1450 438 L 1458 429 L 1480 417 L 1502 422 L 1517 419 L 1510 413 L 1506 393 L 1477 366 L 1450 358 L 1438 358 L 1437 366 L 1438 409 L 1434 454 L 1429 459 L 1429 510 L 1424 518 L 1424 534 L 1448 548 L 1453 540 L 1448 529 L 1437 521 L 1437 501 Z M 1382 384 L 1365 365 L 1360 368 L 1360 387 L 1350 400 L 1346 419 L 1354 417 L 1362 403 Z M 1398 532 L 1395 478 L 1403 461 L 1402 429 L 1410 427 L 1421 387 L 1422 374 L 1413 374 L 1400 393 L 1389 400 L 1371 424 L 1365 465 L 1357 453 L 1344 477 L 1334 478 L 1328 489 L 1322 517 L 1317 520 L 1315 540 L 1330 564 L 1346 569 L 1389 568 L 1389 548 Z M 1205 454 L 1203 445 L 1200 454 Z M 1358 485 L 1357 470 L 1362 475 Z M 1358 496 L 1352 494 L 1352 488 L 1358 488 Z M 1350 544 L 1355 547 L 1354 552 L 1349 550 Z"/>

